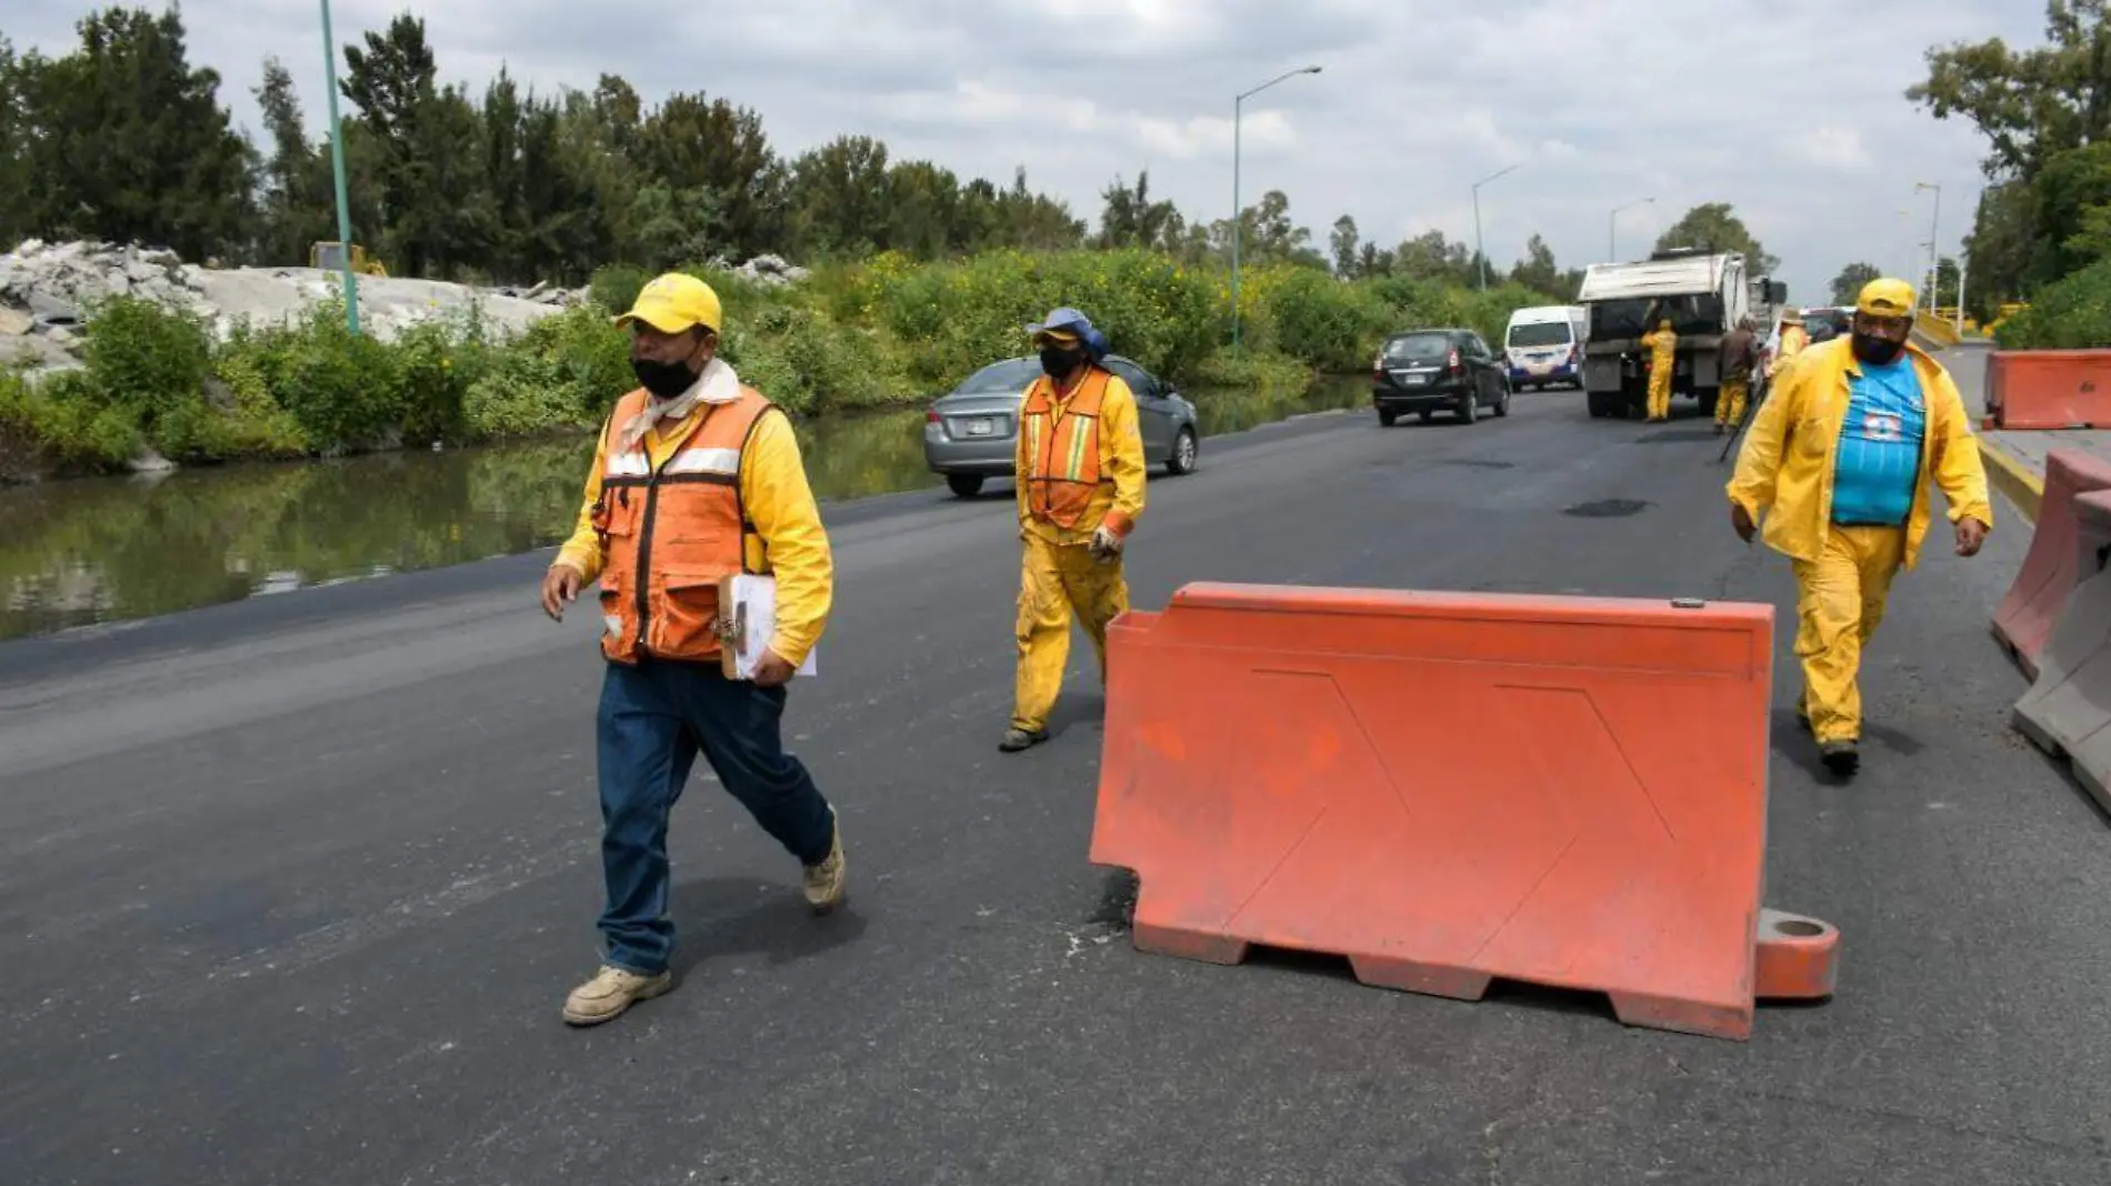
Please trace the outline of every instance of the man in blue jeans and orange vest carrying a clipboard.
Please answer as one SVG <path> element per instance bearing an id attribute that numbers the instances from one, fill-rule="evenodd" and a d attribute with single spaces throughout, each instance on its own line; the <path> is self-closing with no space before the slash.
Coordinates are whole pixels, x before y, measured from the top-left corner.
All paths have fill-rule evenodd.
<path id="1" fill-rule="evenodd" d="M 543 610 L 600 580 L 602 912 L 606 956 L 564 1002 L 595 1026 L 673 988 L 667 812 L 697 753 L 806 869 L 806 905 L 844 895 L 836 810 L 783 751 L 785 684 L 828 623 L 834 561 L 792 424 L 718 357 L 718 293 L 669 274 L 619 319 L 640 390 L 616 401 L 578 530 L 543 578 Z M 775 631 L 749 677 L 722 673 L 720 578 L 775 580 Z"/>

